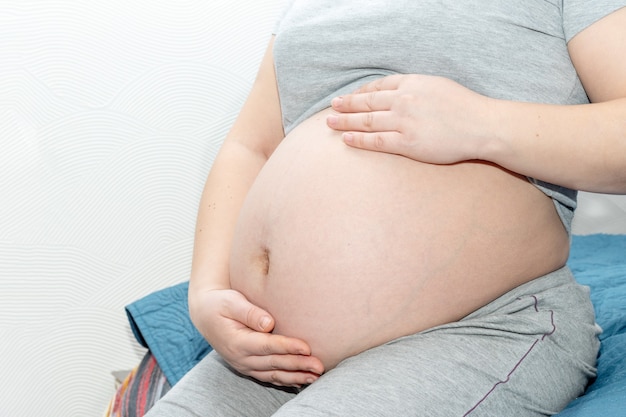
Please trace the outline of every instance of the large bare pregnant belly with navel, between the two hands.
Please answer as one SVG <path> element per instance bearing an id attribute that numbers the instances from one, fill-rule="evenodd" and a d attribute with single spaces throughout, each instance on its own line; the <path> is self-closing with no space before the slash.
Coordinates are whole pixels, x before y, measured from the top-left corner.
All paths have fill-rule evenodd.
<path id="1" fill-rule="evenodd" d="M 240 212 L 231 285 L 327 369 L 458 320 L 563 265 L 552 201 L 484 162 L 423 164 L 349 148 L 325 113 L 276 149 Z"/>

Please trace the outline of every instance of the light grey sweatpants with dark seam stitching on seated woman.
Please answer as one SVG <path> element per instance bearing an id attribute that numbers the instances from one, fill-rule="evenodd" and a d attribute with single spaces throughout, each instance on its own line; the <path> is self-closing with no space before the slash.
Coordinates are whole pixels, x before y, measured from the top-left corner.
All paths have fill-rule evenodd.
<path id="1" fill-rule="evenodd" d="M 147 416 L 551 415 L 594 376 L 599 332 L 588 289 L 563 268 L 348 358 L 300 392 L 242 377 L 213 352 Z"/>

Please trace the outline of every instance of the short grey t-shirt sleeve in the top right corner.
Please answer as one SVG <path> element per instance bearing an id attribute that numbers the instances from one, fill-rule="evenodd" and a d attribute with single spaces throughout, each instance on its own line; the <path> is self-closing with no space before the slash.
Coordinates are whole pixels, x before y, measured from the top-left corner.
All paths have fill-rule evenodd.
<path id="1" fill-rule="evenodd" d="M 626 0 L 563 0 L 565 41 L 622 7 Z"/>

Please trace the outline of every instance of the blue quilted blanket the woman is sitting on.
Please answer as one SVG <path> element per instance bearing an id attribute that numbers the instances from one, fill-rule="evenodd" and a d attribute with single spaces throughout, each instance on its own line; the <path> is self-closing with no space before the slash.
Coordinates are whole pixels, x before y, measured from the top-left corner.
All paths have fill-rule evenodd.
<path id="1" fill-rule="evenodd" d="M 626 416 L 626 235 L 574 236 L 568 264 L 591 288 L 604 332 L 598 377 L 560 417 Z M 126 307 L 135 337 L 149 348 L 173 386 L 211 347 L 189 320 L 188 283 L 152 293 Z"/>

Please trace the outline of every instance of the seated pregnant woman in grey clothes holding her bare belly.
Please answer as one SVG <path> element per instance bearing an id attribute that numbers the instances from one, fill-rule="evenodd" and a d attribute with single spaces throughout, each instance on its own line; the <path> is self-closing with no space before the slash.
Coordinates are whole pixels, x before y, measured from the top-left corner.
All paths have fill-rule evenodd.
<path id="1" fill-rule="evenodd" d="M 626 1 L 289 3 L 202 197 L 215 351 L 150 416 L 543 416 L 598 327 L 574 190 L 626 192 Z M 591 102 L 591 103 L 590 103 Z"/>

